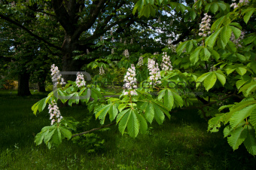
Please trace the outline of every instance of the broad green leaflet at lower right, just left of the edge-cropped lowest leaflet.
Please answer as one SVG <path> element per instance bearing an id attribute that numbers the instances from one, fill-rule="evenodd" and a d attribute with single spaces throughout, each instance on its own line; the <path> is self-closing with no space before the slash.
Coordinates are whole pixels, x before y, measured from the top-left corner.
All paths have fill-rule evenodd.
<path id="1" fill-rule="evenodd" d="M 247 137 L 247 132 L 245 130 L 245 127 L 239 127 L 237 129 L 234 129 L 233 132 L 230 132 L 230 137 L 227 137 L 227 142 L 230 144 L 230 146 L 233 148 L 233 150 L 238 149 L 239 145 L 242 144 L 243 141 L 245 141 L 245 138 Z"/>

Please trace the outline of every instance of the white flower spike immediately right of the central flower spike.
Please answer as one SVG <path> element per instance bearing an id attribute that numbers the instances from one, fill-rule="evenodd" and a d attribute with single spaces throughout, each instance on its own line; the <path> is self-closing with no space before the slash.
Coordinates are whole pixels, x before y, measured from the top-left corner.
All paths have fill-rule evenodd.
<path id="1" fill-rule="evenodd" d="M 149 79 L 153 81 L 154 85 L 161 83 L 160 69 L 158 68 L 158 64 L 154 62 L 154 59 L 148 59 L 148 70 L 150 74 Z M 152 84 L 152 82 L 149 84 Z"/>

